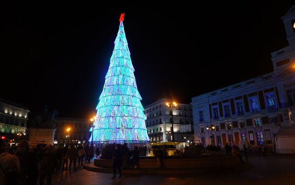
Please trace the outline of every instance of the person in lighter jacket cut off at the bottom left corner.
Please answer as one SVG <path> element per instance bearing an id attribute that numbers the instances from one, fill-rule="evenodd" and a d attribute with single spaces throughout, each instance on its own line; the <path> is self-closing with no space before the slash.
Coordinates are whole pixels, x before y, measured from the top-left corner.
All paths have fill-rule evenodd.
<path id="1" fill-rule="evenodd" d="M 0 140 L 0 183 L 3 185 L 20 184 L 20 162 L 16 156 L 8 153 L 8 144 Z"/>

